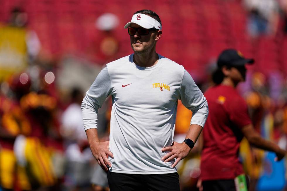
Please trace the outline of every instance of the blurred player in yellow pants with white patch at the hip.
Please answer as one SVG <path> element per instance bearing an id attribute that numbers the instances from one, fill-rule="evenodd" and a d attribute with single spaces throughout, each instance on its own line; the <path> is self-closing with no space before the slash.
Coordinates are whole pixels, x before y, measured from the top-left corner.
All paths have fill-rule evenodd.
<path id="1" fill-rule="evenodd" d="M 18 163 L 26 168 L 32 190 L 58 189 L 60 171 L 54 166 L 57 151 L 57 120 L 55 111 L 57 101 L 53 97 L 29 92 L 20 98 L 20 106 L 31 125 L 28 136 L 19 135 L 14 143 Z"/>

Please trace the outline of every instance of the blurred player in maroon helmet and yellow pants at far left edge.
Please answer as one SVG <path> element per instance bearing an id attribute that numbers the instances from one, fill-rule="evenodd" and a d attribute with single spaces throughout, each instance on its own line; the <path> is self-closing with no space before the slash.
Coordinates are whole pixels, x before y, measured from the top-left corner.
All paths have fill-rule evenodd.
<path id="1" fill-rule="evenodd" d="M 15 76 L 9 80 L 10 89 L 21 95 L 28 93 L 31 82 L 22 79 L 24 81 L 21 83 L 20 75 Z M 2 89 L 3 85 L 0 93 L 0 190 L 30 190 L 25 168 L 19 165 L 14 151 L 16 137 L 30 134 L 30 122 L 19 100 L 9 98 Z"/>

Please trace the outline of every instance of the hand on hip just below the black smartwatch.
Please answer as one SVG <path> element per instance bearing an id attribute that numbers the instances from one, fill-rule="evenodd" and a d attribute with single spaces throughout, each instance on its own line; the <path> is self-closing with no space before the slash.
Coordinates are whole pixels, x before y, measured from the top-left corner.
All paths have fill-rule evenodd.
<path id="1" fill-rule="evenodd" d="M 171 166 L 171 167 L 175 167 L 175 165 L 177 165 L 177 163 L 181 159 L 184 159 L 184 157 L 186 157 L 189 154 L 189 152 L 191 151 L 191 148 L 187 146 L 187 144 L 185 144 L 184 142 L 183 143 L 173 142 L 170 147 L 165 147 L 161 149 L 161 151 L 162 152 L 170 151 L 168 154 L 163 156 L 161 160 L 164 162 L 169 162 L 173 160 L 174 158 L 176 158 L 176 161 Z"/>

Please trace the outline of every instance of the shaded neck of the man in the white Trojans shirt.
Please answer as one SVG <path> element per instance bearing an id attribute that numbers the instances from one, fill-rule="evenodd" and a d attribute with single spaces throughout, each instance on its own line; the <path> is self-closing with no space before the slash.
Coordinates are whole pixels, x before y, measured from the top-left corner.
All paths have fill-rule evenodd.
<path id="1" fill-rule="evenodd" d="M 134 63 L 140 67 L 151 67 L 158 63 L 158 54 L 153 52 L 152 54 L 134 54 Z"/>

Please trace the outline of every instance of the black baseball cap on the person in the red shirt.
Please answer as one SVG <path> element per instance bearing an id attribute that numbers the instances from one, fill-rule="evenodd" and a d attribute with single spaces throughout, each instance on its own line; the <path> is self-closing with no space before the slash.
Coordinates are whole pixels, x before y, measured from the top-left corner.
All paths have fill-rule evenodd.
<path id="1" fill-rule="evenodd" d="M 235 49 L 225 49 L 221 52 L 217 60 L 217 66 L 244 66 L 254 63 L 253 58 L 244 58 L 242 53 Z"/>

